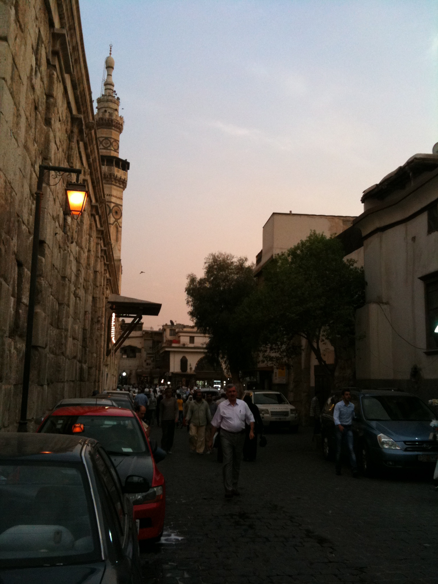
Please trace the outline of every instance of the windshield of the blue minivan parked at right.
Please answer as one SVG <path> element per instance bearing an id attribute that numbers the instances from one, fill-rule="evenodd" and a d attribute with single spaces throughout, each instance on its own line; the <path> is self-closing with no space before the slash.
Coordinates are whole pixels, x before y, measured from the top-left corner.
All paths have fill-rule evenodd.
<path id="1" fill-rule="evenodd" d="M 367 420 L 429 422 L 434 413 L 421 399 L 411 395 L 373 395 L 362 398 L 363 415 Z"/>

